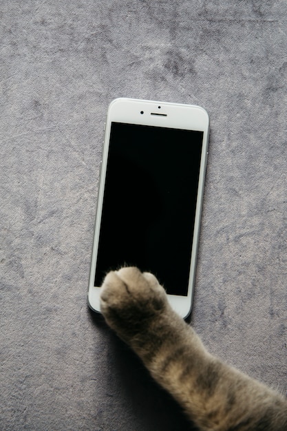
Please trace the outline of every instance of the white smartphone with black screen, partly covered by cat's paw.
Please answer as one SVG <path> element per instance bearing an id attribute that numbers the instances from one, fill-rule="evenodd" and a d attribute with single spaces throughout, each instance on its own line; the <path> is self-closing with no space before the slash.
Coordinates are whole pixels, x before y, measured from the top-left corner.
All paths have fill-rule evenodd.
<path id="1" fill-rule="evenodd" d="M 105 124 L 89 306 L 105 275 L 151 272 L 183 318 L 191 312 L 208 154 L 202 107 L 118 98 Z"/>

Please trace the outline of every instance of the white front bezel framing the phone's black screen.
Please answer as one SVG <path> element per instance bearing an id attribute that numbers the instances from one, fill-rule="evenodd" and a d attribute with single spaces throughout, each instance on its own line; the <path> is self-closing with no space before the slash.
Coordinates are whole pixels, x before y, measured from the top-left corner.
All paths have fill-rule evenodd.
<path id="1" fill-rule="evenodd" d="M 143 112 L 143 114 L 142 114 Z M 200 176 L 198 182 L 198 197 L 195 211 L 195 224 L 193 232 L 193 246 L 191 253 L 191 266 L 189 271 L 189 287 L 187 296 L 167 295 L 171 307 L 182 317 L 186 318 L 191 312 L 195 280 L 196 258 L 198 254 L 198 238 L 200 231 L 200 217 L 202 211 L 202 198 L 204 191 L 204 178 L 207 161 L 207 148 L 209 142 L 209 116 L 205 109 L 195 105 L 181 105 L 158 101 L 144 101 L 131 98 L 117 98 L 111 102 L 107 112 L 105 126 L 105 140 L 103 155 L 100 162 L 100 184 L 98 189 L 98 205 L 94 229 L 94 246 L 92 251 L 92 264 L 89 274 L 88 303 L 92 310 L 100 313 L 100 287 L 94 286 L 96 271 L 96 258 L 98 251 L 98 238 L 100 233 L 100 219 L 103 207 L 103 193 L 109 151 L 109 136 L 111 123 L 131 123 L 138 125 L 151 125 L 158 127 L 171 127 L 203 132 L 202 157 L 200 162 Z"/>

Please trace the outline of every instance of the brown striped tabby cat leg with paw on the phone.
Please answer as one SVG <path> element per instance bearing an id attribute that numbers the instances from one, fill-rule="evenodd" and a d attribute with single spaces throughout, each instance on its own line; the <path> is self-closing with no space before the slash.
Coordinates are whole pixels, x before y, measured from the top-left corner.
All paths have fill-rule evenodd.
<path id="1" fill-rule="evenodd" d="M 283 397 L 210 355 L 150 273 L 109 273 L 101 311 L 201 430 L 287 430 Z"/>

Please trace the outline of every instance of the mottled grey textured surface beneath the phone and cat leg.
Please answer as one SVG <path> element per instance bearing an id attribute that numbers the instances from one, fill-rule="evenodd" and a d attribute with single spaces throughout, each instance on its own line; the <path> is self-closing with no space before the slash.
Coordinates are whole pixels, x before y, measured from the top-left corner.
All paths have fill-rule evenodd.
<path id="1" fill-rule="evenodd" d="M 187 429 L 87 309 L 118 96 L 209 112 L 192 323 L 213 353 L 286 392 L 286 1 L 0 6 L 0 428 Z"/>

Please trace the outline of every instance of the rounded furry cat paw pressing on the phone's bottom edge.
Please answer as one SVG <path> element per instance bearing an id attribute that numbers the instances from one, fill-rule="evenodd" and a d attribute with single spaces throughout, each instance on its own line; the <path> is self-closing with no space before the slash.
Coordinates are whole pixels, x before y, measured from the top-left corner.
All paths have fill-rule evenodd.
<path id="1" fill-rule="evenodd" d="M 111 271 L 100 293 L 100 308 L 107 324 L 128 339 L 167 308 L 164 288 L 151 273 L 135 267 Z"/>

